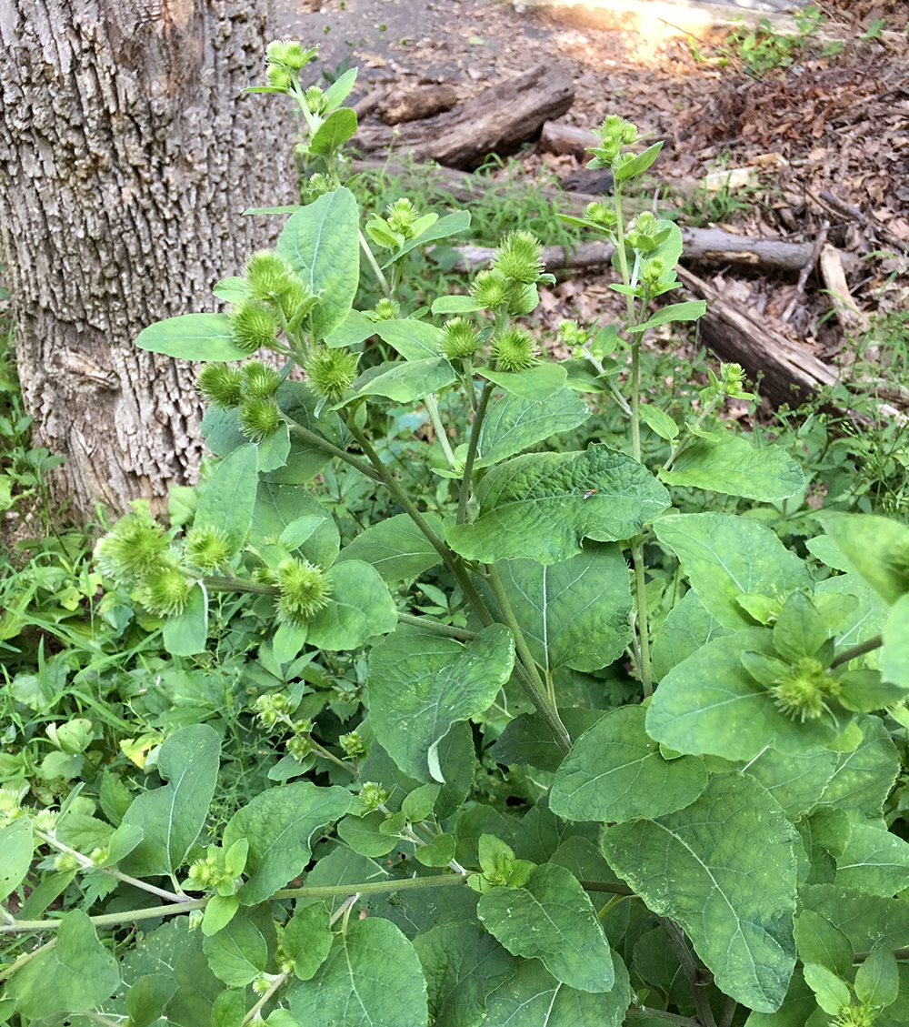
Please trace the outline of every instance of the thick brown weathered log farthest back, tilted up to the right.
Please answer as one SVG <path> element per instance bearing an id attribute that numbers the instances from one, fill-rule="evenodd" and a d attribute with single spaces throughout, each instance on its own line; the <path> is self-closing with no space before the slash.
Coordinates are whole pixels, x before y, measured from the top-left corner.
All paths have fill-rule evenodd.
<path id="1" fill-rule="evenodd" d="M 540 64 L 444 114 L 395 128 L 362 125 L 353 142 L 365 154 L 409 151 L 417 160 L 472 170 L 490 153 L 514 153 L 574 101 L 570 77 L 557 67 Z"/>

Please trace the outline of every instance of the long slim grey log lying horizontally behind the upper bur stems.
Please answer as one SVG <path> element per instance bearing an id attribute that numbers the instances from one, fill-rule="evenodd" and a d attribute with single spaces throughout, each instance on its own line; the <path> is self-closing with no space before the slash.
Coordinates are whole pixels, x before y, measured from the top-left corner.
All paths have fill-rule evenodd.
<path id="1" fill-rule="evenodd" d="M 683 228 L 682 260 L 702 264 L 737 264 L 775 271 L 798 271 L 812 256 L 811 242 L 787 242 L 785 239 L 751 239 L 733 235 L 721 228 Z M 458 246 L 461 254 L 456 271 L 472 271 L 489 264 L 496 251 L 491 246 Z M 608 242 L 582 242 L 565 252 L 563 246 L 544 246 L 543 262 L 547 271 L 566 268 L 580 270 L 608 264 L 615 249 Z"/>

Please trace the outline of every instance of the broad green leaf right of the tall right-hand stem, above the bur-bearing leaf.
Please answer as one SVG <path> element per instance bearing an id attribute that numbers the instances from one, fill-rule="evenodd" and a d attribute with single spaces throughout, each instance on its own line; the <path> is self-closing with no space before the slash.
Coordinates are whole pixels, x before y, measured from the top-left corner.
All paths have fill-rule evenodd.
<path id="1" fill-rule="evenodd" d="M 754 621 L 736 602 L 743 594 L 785 598 L 812 583 L 807 567 L 769 528 L 730 514 L 661 518 L 657 537 L 678 557 L 705 608 L 724 627 Z"/>

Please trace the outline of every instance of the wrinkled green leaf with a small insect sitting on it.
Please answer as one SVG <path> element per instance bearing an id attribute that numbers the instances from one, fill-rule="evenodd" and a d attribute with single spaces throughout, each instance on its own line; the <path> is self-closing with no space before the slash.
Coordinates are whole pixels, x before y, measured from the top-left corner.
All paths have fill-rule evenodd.
<path id="1" fill-rule="evenodd" d="M 586 497 L 586 498 L 585 498 Z M 567 560 L 582 540 L 631 538 L 669 505 L 669 494 L 636 460 L 606 446 L 531 453 L 491 468 L 476 491 L 479 518 L 452 525 L 448 544 L 471 560 Z"/>

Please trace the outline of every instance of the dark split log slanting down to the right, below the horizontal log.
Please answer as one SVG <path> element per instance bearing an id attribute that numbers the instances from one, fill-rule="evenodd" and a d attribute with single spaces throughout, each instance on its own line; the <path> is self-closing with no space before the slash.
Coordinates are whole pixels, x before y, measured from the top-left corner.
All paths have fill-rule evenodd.
<path id="1" fill-rule="evenodd" d="M 775 407 L 807 400 L 822 386 L 836 384 L 833 368 L 805 346 L 756 320 L 686 268 L 677 270 L 688 297 L 707 301 L 707 312 L 698 321 L 701 342 L 720 359 L 741 364 L 752 380 L 760 378 L 761 394 Z"/>

